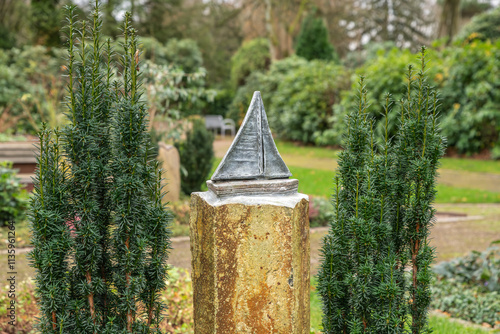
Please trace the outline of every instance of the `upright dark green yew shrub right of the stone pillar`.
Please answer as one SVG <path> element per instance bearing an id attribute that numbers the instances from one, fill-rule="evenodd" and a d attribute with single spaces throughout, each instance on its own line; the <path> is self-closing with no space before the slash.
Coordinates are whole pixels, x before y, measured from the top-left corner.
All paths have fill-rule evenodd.
<path id="1" fill-rule="evenodd" d="M 318 291 L 325 333 L 429 333 L 428 235 L 433 224 L 436 170 L 444 153 L 437 93 L 408 67 L 406 97 L 389 137 L 377 143 L 364 79 L 347 118 L 344 151 L 335 179 L 335 218 L 323 240 Z"/>

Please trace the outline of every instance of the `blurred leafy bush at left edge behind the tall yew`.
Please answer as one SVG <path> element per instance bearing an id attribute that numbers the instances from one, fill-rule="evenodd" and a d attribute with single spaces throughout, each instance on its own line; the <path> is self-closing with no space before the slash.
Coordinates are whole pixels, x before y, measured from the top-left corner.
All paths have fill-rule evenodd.
<path id="1" fill-rule="evenodd" d="M 63 52 L 44 46 L 0 50 L 0 114 L 5 122 L 0 132 L 35 134 L 42 122 L 60 125 Z"/>

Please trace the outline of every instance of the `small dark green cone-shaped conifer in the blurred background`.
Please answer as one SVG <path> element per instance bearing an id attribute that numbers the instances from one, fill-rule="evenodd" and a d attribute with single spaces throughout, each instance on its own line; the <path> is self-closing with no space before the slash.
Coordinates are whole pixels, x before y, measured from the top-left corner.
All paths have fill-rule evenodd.
<path id="1" fill-rule="evenodd" d="M 339 57 L 328 40 L 328 29 L 322 18 L 308 15 L 300 28 L 295 53 L 307 60 L 322 59 L 339 61 Z"/>

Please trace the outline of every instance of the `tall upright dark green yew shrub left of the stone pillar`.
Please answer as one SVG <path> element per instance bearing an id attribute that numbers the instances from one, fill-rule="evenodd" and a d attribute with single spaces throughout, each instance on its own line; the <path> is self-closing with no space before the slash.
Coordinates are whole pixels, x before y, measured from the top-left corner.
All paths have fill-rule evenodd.
<path id="1" fill-rule="evenodd" d="M 69 125 L 40 133 L 31 203 L 42 333 L 160 333 L 170 215 L 147 131 L 131 16 L 121 63 L 68 7 Z"/>

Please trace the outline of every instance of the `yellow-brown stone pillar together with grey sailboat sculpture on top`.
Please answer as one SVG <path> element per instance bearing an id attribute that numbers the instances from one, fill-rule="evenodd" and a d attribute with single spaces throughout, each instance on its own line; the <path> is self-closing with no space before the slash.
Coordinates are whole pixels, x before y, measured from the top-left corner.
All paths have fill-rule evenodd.
<path id="1" fill-rule="evenodd" d="M 256 92 L 228 153 L 191 196 L 196 334 L 309 333 L 308 199 Z"/>

